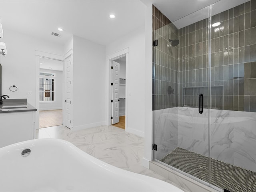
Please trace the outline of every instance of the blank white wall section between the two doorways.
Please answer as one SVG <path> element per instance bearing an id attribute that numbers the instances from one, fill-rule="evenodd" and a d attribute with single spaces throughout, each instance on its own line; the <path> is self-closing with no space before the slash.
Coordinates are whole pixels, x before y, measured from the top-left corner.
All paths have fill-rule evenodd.
<path id="1" fill-rule="evenodd" d="M 104 125 L 105 46 L 74 36 L 73 47 L 73 130 Z"/>

